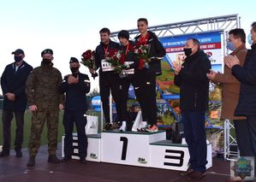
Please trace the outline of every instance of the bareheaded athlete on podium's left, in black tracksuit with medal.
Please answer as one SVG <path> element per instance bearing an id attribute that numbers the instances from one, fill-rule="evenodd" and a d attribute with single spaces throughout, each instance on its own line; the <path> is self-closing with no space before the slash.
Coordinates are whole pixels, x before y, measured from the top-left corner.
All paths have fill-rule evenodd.
<path id="1" fill-rule="evenodd" d="M 116 103 L 117 118 L 120 120 L 121 105 L 120 105 L 120 78 L 118 73 L 113 71 L 108 62 L 105 62 L 105 56 L 110 51 L 120 50 L 120 45 L 110 40 L 110 30 L 102 28 L 99 31 L 101 42 L 95 50 L 96 70 L 99 68 L 99 90 L 104 111 L 105 126 L 104 130 L 111 130 L 113 127 L 110 124 L 110 91 Z M 90 70 L 94 73 L 94 70 Z"/>

